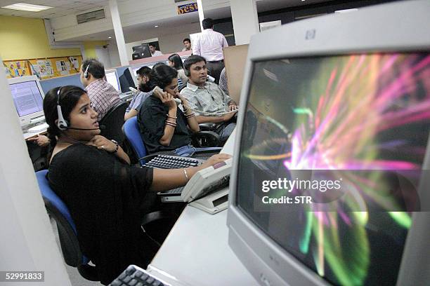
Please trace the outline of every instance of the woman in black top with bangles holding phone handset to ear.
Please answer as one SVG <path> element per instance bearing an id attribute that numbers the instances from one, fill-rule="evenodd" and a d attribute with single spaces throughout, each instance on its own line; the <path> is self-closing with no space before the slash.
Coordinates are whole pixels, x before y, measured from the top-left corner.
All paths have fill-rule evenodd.
<path id="1" fill-rule="evenodd" d="M 157 64 L 152 68 L 147 89 L 158 86 L 162 90 L 154 91 L 142 103 L 137 120 L 143 142 L 148 153 L 157 151 L 175 151 L 180 156 L 183 149 L 191 144 L 191 133 L 200 131 L 195 114 L 190 110 L 188 100 L 178 92 L 178 71 L 166 64 Z M 181 100 L 183 111 L 174 99 Z M 182 147 L 182 149 L 179 149 Z"/>

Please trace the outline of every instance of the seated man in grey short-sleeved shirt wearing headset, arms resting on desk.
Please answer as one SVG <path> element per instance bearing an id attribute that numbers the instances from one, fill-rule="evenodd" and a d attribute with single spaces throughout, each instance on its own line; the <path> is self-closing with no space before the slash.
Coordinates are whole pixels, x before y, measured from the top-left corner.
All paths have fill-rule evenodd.
<path id="1" fill-rule="evenodd" d="M 187 86 L 181 90 L 181 95 L 190 102 L 195 112 L 197 122 L 216 123 L 216 132 L 221 142 L 226 142 L 236 126 L 234 123 L 237 104 L 216 83 L 207 81 L 206 60 L 200 55 L 191 55 L 183 63 L 185 74 L 188 76 Z M 227 111 L 233 111 L 227 113 Z M 217 115 L 221 113 L 221 115 Z"/>

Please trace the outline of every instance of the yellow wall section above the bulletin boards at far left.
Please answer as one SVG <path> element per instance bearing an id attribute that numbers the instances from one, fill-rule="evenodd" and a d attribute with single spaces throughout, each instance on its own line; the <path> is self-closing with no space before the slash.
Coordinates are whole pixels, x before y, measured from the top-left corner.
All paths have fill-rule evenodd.
<path id="1" fill-rule="evenodd" d="M 44 20 L 0 16 L 0 57 L 24 60 L 43 57 L 81 55 L 79 48 L 51 49 Z"/>

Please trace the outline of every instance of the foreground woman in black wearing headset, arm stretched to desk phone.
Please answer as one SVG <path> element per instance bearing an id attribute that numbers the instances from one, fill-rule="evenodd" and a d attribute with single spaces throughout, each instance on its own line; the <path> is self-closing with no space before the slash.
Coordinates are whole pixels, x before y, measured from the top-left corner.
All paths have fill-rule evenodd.
<path id="1" fill-rule="evenodd" d="M 58 105 L 65 123 L 58 120 Z M 44 113 L 53 144 L 49 184 L 69 208 L 79 246 L 96 264 L 103 284 L 129 264 L 145 267 L 155 254 L 140 226 L 146 194 L 183 186 L 198 170 L 228 158 L 213 156 L 186 169 L 132 167 L 121 147 L 99 135 L 98 114 L 85 91 L 75 86 L 50 90 Z"/>

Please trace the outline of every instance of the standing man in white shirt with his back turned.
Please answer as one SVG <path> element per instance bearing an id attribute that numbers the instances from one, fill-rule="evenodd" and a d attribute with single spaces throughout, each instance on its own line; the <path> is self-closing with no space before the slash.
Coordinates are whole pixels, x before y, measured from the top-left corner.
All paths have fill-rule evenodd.
<path id="1" fill-rule="evenodd" d="M 193 55 L 201 55 L 206 59 L 209 74 L 219 83 L 219 76 L 224 68 L 223 48 L 228 47 L 226 37 L 214 31 L 214 20 L 206 18 L 202 21 L 203 32 L 193 43 Z"/>

